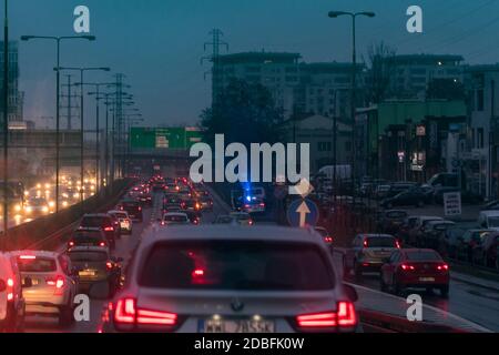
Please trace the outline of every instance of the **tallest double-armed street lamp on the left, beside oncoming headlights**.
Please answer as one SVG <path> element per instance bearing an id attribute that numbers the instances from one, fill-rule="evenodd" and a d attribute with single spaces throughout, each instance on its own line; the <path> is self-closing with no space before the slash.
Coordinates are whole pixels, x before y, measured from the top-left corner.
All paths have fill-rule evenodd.
<path id="1" fill-rule="evenodd" d="M 60 155 L 60 80 L 61 72 L 59 70 L 61 62 L 61 41 L 63 40 L 88 40 L 95 41 L 95 36 L 64 36 L 64 37 L 50 37 L 50 36 L 21 36 L 21 41 L 30 40 L 52 40 L 57 43 L 57 70 L 55 70 L 55 212 L 59 212 L 59 155 Z"/>

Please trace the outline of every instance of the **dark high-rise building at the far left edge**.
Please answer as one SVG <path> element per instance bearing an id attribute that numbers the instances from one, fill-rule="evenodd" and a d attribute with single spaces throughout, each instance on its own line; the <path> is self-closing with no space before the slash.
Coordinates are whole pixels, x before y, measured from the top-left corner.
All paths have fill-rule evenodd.
<path id="1" fill-rule="evenodd" d="M 23 94 L 19 91 L 18 42 L 9 42 L 9 122 L 22 121 Z M 0 41 L 0 94 L 3 97 L 3 41 Z M 0 100 L 3 110 L 3 100 Z"/>

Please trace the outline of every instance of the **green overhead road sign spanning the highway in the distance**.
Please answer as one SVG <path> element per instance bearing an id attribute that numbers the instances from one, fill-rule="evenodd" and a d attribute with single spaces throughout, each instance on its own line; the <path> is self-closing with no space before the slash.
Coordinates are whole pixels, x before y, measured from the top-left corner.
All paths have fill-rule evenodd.
<path id="1" fill-rule="evenodd" d="M 130 129 L 131 149 L 189 150 L 202 141 L 198 128 L 140 128 Z"/>

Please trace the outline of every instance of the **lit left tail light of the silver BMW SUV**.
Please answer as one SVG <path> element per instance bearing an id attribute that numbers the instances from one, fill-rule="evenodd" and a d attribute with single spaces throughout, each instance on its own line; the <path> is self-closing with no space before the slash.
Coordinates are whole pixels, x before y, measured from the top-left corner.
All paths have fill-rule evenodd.
<path id="1" fill-rule="evenodd" d="M 114 323 L 123 325 L 167 325 L 174 326 L 177 322 L 175 313 L 141 310 L 136 307 L 134 298 L 119 300 L 114 312 Z"/>

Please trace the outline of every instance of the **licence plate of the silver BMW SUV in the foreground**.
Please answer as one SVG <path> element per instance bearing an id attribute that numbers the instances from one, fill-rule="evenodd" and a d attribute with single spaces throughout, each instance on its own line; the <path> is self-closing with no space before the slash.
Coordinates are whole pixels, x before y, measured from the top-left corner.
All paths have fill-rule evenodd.
<path id="1" fill-rule="evenodd" d="M 200 321 L 202 333 L 275 333 L 275 323 L 272 321 Z"/>

